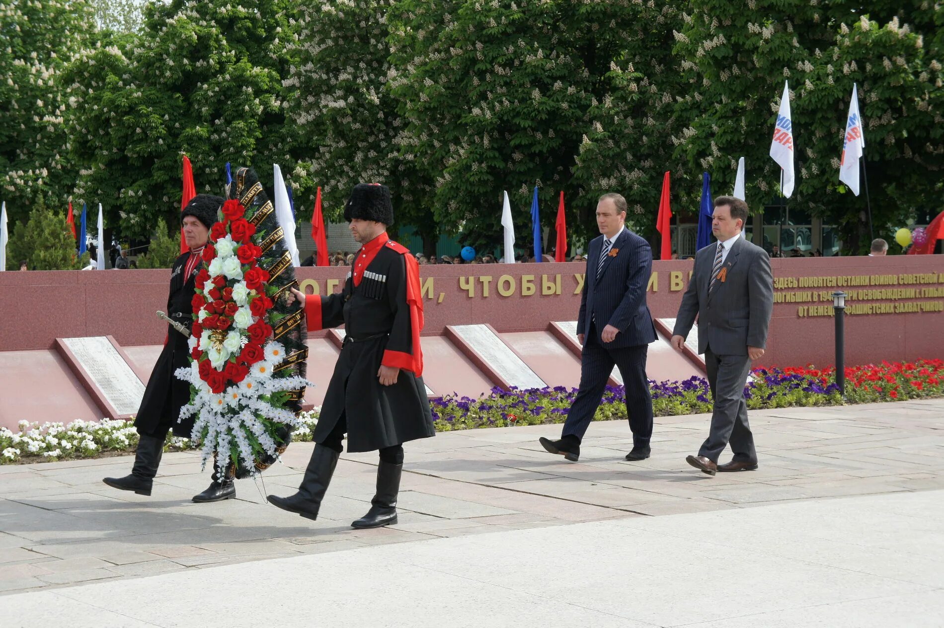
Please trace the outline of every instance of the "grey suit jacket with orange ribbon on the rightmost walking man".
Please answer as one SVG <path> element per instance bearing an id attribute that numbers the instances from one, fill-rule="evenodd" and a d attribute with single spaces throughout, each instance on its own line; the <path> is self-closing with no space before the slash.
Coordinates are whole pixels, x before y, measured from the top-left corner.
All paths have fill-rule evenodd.
<path id="1" fill-rule="evenodd" d="M 697 315 L 699 353 L 711 348 L 716 355 L 747 355 L 748 347 L 766 348 L 773 313 L 773 272 L 767 251 L 742 234 L 722 265 L 727 269 L 725 280 L 709 297 L 716 247 L 705 246 L 696 253 L 672 334 L 687 337 Z"/>

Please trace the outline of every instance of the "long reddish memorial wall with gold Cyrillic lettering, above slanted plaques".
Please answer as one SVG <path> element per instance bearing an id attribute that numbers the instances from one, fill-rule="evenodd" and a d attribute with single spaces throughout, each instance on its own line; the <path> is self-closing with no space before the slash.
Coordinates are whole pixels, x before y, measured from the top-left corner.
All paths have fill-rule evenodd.
<path id="1" fill-rule="evenodd" d="M 944 357 L 944 256 L 772 260 L 775 305 L 764 365 L 834 362 L 835 290 L 847 297 L 846 364 Z M 692 262 L 653 263 L 649 308 L 674 318 Z M 421 266 L 424 335 L 488 323 L 538 331 L 576 320 L 584 263 Z M 298 268 L 313 294 L 340 290 L 346 267 Z M 169 271 L 0 273 L 0 350 L 51 348 L 55 339 L 111 335 L 123 346 L 158 345 Z M 322 334 L 324 332 L 321 332 Z"/>

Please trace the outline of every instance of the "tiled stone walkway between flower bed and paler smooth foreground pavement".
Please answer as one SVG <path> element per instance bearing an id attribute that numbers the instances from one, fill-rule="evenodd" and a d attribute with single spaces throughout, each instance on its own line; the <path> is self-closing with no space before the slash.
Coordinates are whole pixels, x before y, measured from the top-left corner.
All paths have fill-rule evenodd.
<path id="1" fill-rule="evenodd" d="M 578 463 L 537 444 L 557 437 L 557 425 L 415 441 L 406 447 L 399 523 L 380 531 L 349 526 L 373 495 L 373 452 L 342 457 L 318 521 L 264 499 L 294 492 L 311 455 L 307 443 L 292 445 L 284 464 L 260 480 L 237 483 L 238 499 L 212 504 L 190 501 L 209 483 L 194 452 L 164 455 L 151 497 L 101 483 L 126 474 L 129 456 L 4 466 L 0 592 L 583 521 L 944 489 L 941 399 L 751 412 L 761 467 L 716 477 L 684 462 L 709 421 L 657 418 L 652 456 L 639 463 L 623 460 L 632 446 L 624 421 L 594 423 Z"/>

